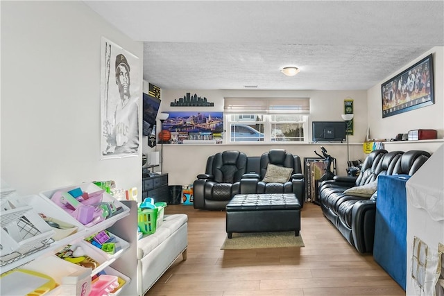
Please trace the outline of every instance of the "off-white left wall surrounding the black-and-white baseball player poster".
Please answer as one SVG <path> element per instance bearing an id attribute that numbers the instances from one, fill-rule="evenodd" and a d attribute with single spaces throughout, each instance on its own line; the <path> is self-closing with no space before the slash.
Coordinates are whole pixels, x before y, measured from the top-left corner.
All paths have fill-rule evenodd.
<path id="1" fill-rule="evenodd" d="M 142 44 L 81 1 L 1 1 L 1 178 L 19 193 L 93 180 L 142 192 L 140 155 L 100 160 L 102 36 L 142 69 Z"/>

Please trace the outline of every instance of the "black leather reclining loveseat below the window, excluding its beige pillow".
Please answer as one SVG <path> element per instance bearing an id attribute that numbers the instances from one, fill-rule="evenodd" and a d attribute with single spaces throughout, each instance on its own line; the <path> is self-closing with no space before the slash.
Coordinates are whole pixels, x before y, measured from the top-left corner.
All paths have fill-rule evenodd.
<path id="1" fill-rule="evenodd" d="M 292 168 L 287 182 L 264 182 L 268 164 Z M 305 181 L 300 157 L 284 149 L 272 149 L 261 156 L 228 150 L 208 157 L 205 173 L 194 181 L 194 208 L 224 210 L 236 194 L 295 193 L 304 204 Z"/>

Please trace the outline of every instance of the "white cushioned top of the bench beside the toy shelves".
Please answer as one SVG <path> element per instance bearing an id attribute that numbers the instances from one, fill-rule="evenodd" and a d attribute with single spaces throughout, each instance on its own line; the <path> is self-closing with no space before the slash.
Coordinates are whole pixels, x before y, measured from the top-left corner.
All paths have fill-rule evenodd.
<path id="1" fill-rule="evenodd" d="M 187 223 L 187 220 L 188 216 L 185 214 L 165 215 L 162 225 L 155 230 L 155 233 L 144 235 L 137 241 L 137 259 L 142 259 L 149 254 L 177 229 Z"/>

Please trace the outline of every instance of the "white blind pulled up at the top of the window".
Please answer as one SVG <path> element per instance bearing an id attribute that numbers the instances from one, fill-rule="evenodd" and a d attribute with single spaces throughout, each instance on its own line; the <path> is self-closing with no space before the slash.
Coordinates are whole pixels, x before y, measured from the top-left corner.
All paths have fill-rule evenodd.
<path id="1" fill-rule="evenodd" d="M 225 113 L 309 114 L 309 98 L 225 98 Z"/>

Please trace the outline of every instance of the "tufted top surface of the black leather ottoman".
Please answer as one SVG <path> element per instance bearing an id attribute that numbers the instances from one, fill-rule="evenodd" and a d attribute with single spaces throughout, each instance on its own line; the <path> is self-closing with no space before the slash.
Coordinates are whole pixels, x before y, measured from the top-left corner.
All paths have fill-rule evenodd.
<path id="1" fill-rule="evenodd" d="M 300 209 L 293 193 L 237 194 L 225 207 L 227 211 Z"/>

